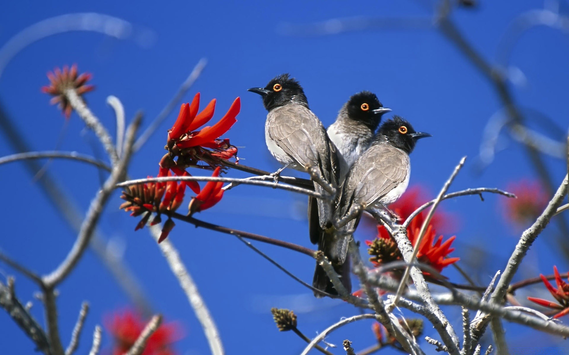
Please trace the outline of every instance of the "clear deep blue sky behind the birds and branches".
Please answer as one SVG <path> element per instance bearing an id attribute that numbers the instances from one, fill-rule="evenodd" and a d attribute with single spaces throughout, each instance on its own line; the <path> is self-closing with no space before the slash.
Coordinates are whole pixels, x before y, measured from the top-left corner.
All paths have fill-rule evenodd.
<path id="1" fill-rule="evenodd" d="M 542 6 L 540 1 L 480 1 L 476 9 L 455 11 L 453 18 L 467 39 L 493 60 L 508 24 L 522 12 Z M 568 8 L 563 2 L 562 11 Z M 114 116 L 105 105 L 108 95 L 121 99 L 129 119 L 135 111 L 143 110 L 148 124 L 196 62 L 207 57 L 207 68 L 184 102 L 197 91 L 203 101 L 217 98 L 216 120 L 234 98 L 241 97 L 241 114 L 227 136 L 242 147 L 239 155 L 246 165 L 266 170 L 278 168 L 265 146 L 266 111 L 258 95 L 246 89 L 264 86 L 275 75 L 290 72 L 302 83 L 312 110 L 326 126 L 333 122 L 350 95 L 370 90 L 394 114 L 409 119 L 417 130 L 431 133 L 433 137 L 420 141 L 411 157 L 411 183 L 422 184 L 431 195 L 435 195 L 465 155 L 467 166 L 451 190 L 479 186 L 504 188 L 510 181 L 534 177 L 521 146 L 507 137 L 501 140 L 501 148 L 505 149 L 497 154 L 493 164 L 483 174 L 475 173 L 483 128 L 500 109 L 500 102 L 493 87 L 436 30 L 368 30 L 322 37 L 286 36 L 279 32 L 284 23 L 304 24 L 351 16 L 429 16 L 426 6 L 418 2 L 361 1 L 349 5 L 342 1 L 137 2 L 135 5 L 119 1 L 6 2 L 0 11 L 0 44 L 39 20 L 67 12 L 90 11 L 129 21 L 133 24 L 133 37 L 117 40 L 91 32 L 48 37 L 18 53 L 0 78 L 2 104 L 34 149 L 55 148 L 64 126 L 60 112 L 48 105 L 49 98 L 39 90 L 48 82 L 46 72 L 55 66 L 77 63 L 80 71 L 93 73 L 92 83 L 97 89 L 86 99 L 114 132 Z M 134 38 L 145 34 L 147 45 L 141 46 Z M 517 43 L 511 60 L 527 80 L 525 85 L 514 89 L 517 102 L 523 108 L 549 116 L 563 130 L 569 116 L 567 44 L 567 37 L 561 32 L 535 28 Z M 529 118 L 540 132 L 554 139 L 563 137 L 562 131 L 539 116 L 531 114 Z M 175 114 L 170 115 L 135 156 L 129 169 L 131 177 L 156 174 L 158 160 L 164 153 L 166 130 L 174 120 Z M 95 154 L 93 146 L 97 154 L 102 153 L 93 135 L 85 133 L 83 122 L 73 114 L 60 149 Z M 10 153 L 13 148 L 0 139 L 0 155 Z M 566 171 L 563 162 L 546 158 L 546 163 L 555 183 L 559 183 Z M 77 162 L 54 161 L 50 172 L 80 203 L 83 213 L 98 189 L 97 171 Z M 75 236 L 22 164 L 0 166 L 0 174 L 5 199 L 0 208 L 4 222 L 0 248 L 38 273 L 50 272 L 67 254 Z M 246 174 L 230 172 L 228 176 Z M 118 210 L 121 202 L 118 196 L 117 191 L 106 208 L 101 232 L 124 248 L 123 258 L 141 279 L 155 311 L 162 312 L 166 320 L 183 324 L 185 337 L 176 345 L 178 352 L 208 353 L 200 325 L 159 249 L 147 231 L 134 232 L 137 220 Z M 463 266 L 468 269 L 468 261 L 476 252 L 488 253 L 482 266 L 469 269 L 480 283 L 488 283 L 497 269 L 503 269 L 520 233 L 504 222 L 498 197 L 485 197 L 484 203 L 477 197 L 464 197 L 443 204 L 444 210 L 459 221 L 449 226 L 457 235 L 452 255 L 463 258 Z M 312 247 L 304 208 L 304 197 L 240 186 L 229 191 L 218 206 L 198 217 Z M 233 237 L 177 224 L 170 238 L 212 311 L 229 354 L 300 352 L 304 344 L 298 337 L 277 331 L 271 307 L 295 310 L 299 328 L 307 336 L 316 335 L 343 316 L 358 313 L 339 301 L 314 299 L 310 290 Z M 562 272 L 569 270 L 569 264 L 557 252 L 556 233 L 558 230 L 552 226 L 539 237 L 523 262 L 523 275 L 549 274 L 554 264 Z M 373 233 L 358 233 L 360 240 L 372 238 Z M 314 261 L 310 258 L 270 245 L 256 245 L 292 273 L 311 281 Z M 0 273 L 15 274 L 3 264 Z M 451 269 L 444 274 L 452 281 L 463 282 Z M 20 298 L 32 299 L 35 286 L 23 276 L 15 275 Z M 538 289 L 543 291 L 542 287 Z M 129 299 L 90 251 L 59 290 L 60 330 L 65 344 L 81 302 L 89 300 L 92 306 L 81 338 L 81 353 L 89 349 L 94 325 L 101 324 L 105 314 L 129 305 Z M 546 296 L 537 289 L 532 295 Z M 525 296 L 522 294 L 519 299 Z M 32 313 L 43 321 L 42 306 L 38 301 L 35 303 Z M 460 310 L 449 310 L 448 315 L 451 321 L 460 324 Z M 329 341 L 341 345 L 342 340 L 349 338 L 356 350 L 365 348 L 374 343 L 370 325 L 370 321 L 349 325 L 334 333 Z M 558 340 L 547 336 L 528 336 L 533 332 L 526 328 L 506 326 L 510 327 L 507 334 L 510 344 L 522 347 L 558 344 Z M 0 312 L 0 329 L 4 353 L 32 352 L 30 340 L 5 312 Z M 426 327 L 425 335 L 438 337 L 430 327 Z M 104 333 L 103 344 L 109 349 L 109 333 Z M 428 346 L 425 348 L 434 353 Z"/>

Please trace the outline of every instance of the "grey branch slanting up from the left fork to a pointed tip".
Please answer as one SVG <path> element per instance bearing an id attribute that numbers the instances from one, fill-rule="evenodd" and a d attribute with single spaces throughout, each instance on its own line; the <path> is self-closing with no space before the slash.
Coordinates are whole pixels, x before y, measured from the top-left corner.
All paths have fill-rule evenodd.
<path id="1" fill-rule="evenodd" d="M 86 214 L 85 220 L 81 225 L 79 235 L 73 248 L 69 252 L 68 256 L 63 262 L 53 270 L 50 274 L 43 277 L 43 282 L 48 288 L 55 287 L 58 283 L 63 281 L 65 277 L 71 272 L 75 267 L 81 256 L 89 244 L 90 238 L 93 235 L 95 226 L 102 214 L 103 208 L 110 198 L 110 195 L 114 191 L 114 186 L 118 181 L 121 181 L 126 176 L 126 169 L 130 162 L 131 154 L 133 153 L 132 144 L 134 143 L 134 137 L 136 131 L 141 123 L 141 116 L 137 116 L 133 123 L 130 124 L 126 132 L 126 145 L 124 156 L 114 166 L 113 172 L 110 174 L 109 178 L 106 180 L 105 185 L 102 187 L 101 191 L 97 193 L 97 196 L 93 199 L 89 206 L 89 211 Z"/>

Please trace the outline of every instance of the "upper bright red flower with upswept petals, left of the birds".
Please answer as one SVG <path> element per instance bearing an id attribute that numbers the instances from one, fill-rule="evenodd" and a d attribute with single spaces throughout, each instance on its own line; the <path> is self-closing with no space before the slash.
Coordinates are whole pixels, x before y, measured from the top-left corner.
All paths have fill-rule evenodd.
<path id="1" fill-rule="evenodd" d="M 226 114 L 213 126 L 204 126 L 212 119 L 216 100 L 213 99 L 199 112 L 200 93 L 197 93 L 192 103 L 184 103 L 180 107 L 178 119 L 168 131 L 168 153 L 160 161 L 163 168 L 176 166 L 185 170 L 203 161 L 211 169 L 219 166 L 220 160 L 236 158 L 237 148 L 229 143 L 229 139 L 220 139 L 234 123 L 241 110 L 241 100 L 236 98 Z M 201 127 L 201 128 L 200 128 Z"/>

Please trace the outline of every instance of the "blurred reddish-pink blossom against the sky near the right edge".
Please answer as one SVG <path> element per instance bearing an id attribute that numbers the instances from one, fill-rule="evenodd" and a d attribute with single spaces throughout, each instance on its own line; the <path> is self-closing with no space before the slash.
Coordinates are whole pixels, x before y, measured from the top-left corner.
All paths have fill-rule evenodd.
<path id="1" fill-rule="evenodd" d="M 502 199 L 504 214 L 511 222 L 524 226 L 534 220 L 545 210 L 549 199 L 541 183 L 522 179 L 512 182 L 506 187 L 517 198 Z"/>

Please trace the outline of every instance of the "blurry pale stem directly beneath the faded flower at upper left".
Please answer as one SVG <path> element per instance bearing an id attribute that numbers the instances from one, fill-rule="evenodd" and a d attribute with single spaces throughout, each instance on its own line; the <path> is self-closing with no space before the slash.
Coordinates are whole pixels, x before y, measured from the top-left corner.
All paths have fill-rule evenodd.
<path id="1" fill-rule="evenodd" d="M 68 99 L 69 104 L 73 107 L 73 110 L 83 119 L 86 126 L 89 127 L 97 138 L 101 141 L 103 148 L 109 155 L 110 161 L 113 165 L 118 164 L 117 150 L 114 149 L 113 139 L 106 130 L 105 126 L 102 125 L 100 120 L 93 115 L 93 112 L 89 110 L 89 107 L 85 105 L 83 99 L 77 94 L 75 89 L 67 89 L 64 91 L 65 97 Z"/>

